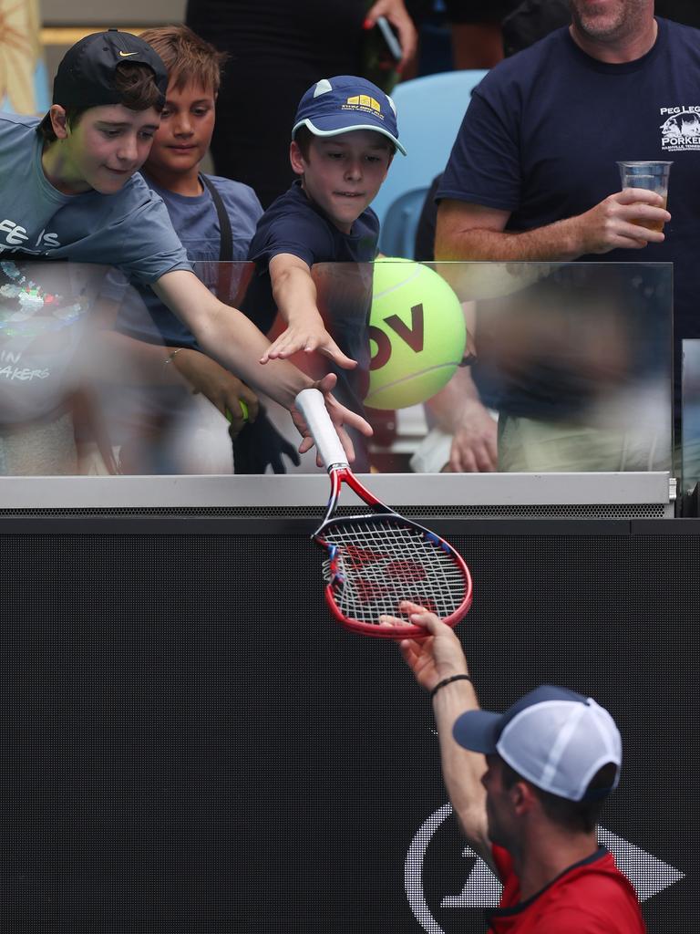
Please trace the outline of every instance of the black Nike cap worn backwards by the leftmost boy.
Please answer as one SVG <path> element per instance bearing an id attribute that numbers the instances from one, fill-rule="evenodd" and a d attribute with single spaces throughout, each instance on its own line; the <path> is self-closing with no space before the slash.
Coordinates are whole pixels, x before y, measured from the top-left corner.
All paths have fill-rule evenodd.
<path id="1" fill-rule="evenodd" d="M 168 72 L 161 57 L 137 35 L 117 29 L 86 35 L 65 53 L 53 81 L 53 103 L 63 107 L 119 104 L 114 77 L 123 62 L 151 69 L 164 106 Z"/>

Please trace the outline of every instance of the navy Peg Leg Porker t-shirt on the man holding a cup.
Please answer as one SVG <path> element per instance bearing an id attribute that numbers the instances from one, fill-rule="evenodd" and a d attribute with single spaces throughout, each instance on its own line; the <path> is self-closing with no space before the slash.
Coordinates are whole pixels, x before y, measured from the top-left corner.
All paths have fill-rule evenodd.
<path id="1" fill-rule="evenodd" d="M 598 62 L 564 28 L 498 64 L 472 94 L 437 198 L 511 211 L 506 229 L 526 231 L 620 191 L 617 161 L 672 160 L 665 242 L 581 259 L 673 262 L 678 361 L 679 338 L 700 336 L 700 31 L 657 22 L 635 62 Z M 678 367 L 676 382 L 678 401 Z"/>

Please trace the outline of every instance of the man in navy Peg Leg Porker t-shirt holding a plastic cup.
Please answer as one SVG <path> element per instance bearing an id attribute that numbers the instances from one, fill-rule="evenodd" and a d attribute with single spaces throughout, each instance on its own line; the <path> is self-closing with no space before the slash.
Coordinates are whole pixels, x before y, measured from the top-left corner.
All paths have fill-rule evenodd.
<path id="1" fill-rule="evenodd" d="M 678 361 L 678 339 L 700 336 L 700 33 L 655 20 L 652 0 L 571 8 L 570 27 L 499 64 L 473 92 L 437 193 L 436 258 L 673 262 Z M 616 162 L 630 159 L 673 162 L 670 214 L 658 195 L 620 191 Z M 664 221 L 664 233 L 641 220 Z M 678 368 L 676 377 L 678 414 Z M 471 400 L 452 419 L 453 467 L 493 469 L 485 452 L 495 428 L 467 371 L 450 391 L 444 417 L 465 393 Z M 527 398 L 524 382 L 519 417 Z"/>

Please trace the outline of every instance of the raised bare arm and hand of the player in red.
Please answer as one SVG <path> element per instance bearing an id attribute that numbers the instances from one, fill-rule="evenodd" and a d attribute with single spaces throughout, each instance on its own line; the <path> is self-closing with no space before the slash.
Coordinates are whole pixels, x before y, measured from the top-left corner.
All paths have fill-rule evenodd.
<path id="1" fill-rule="evenodd" d="M 422 626 L 430 633 L 427 639 L 406 639 L 400 644 L 401 655 L 421 687 L 432 691 L 445 678 L 455 674 L 469 674 L 467 659 L 455 630 L 415 603 L 403 602 L 401 609 L 409 612 L 409 621 L 413 625 Z M 385 618 L 394 624 L 401 622 L 398 617 Z M 474 686 L 464 679 L 441 687 L 433 699 L 433 712 L 440 738 L 442 775 L 447 793 L 470 845 L 484 861 L 492 865 L 486 792 L 481 782 L 486 771 L 486 761 L 481 754 L 463 749 L 452 735 L 457 717 L 465 711 L 478 709 L 479 701 Z"/>

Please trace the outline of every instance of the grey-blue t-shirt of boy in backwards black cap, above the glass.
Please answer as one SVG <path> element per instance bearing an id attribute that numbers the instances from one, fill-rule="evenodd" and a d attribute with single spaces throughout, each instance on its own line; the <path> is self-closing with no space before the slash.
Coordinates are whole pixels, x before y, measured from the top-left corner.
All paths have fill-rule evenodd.
<path id="1" fill-rule="evenodd" d="M 117 266 L 148 285 L 191 269 L 161 198 L 136 174 L 116 194 L 63 194 L 41 167 L 35 117 L 0 114 L 0 257 Z"/>

